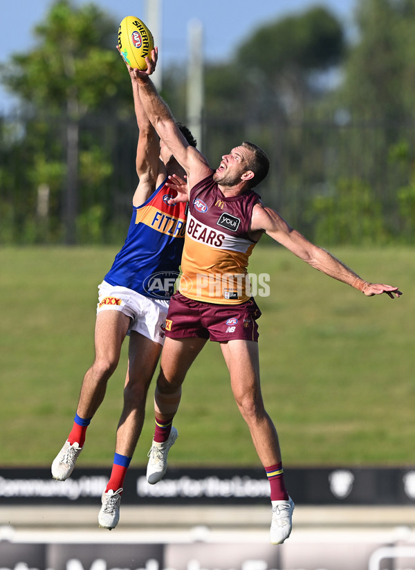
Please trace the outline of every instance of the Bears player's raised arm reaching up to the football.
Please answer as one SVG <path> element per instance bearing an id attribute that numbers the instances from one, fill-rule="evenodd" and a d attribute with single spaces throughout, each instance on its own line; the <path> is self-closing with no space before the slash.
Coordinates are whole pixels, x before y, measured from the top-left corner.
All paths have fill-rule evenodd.
<path id="1" fill-rule="evenodd" d="M 133 70 L 140 91 L 140 100 L 158 136 L 172 152 L 178 163 L 183 166 L 187 174 L 187 180 L 190 186 L 193 186 L 206 176 L 209 176 L 212 169 L 210 169 L 208 160 L 206 160 L 203 154 L 187 143 L 187 140 L 178 129 L 169 107 L 157 93 L 149 77 L 156 67 L 156 61 L 157 50 L 153 50 L 151 52 L 151 60 L 146 57 L 147 70 Z"/>

